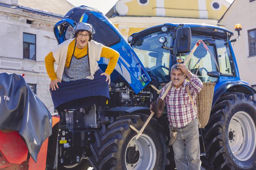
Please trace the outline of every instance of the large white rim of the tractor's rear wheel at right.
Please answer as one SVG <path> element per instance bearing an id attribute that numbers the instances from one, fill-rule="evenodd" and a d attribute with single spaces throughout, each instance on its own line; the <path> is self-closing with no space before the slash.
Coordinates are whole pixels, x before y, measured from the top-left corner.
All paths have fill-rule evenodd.
<path id="1" fill-rule="evenodd" d="M 228 129 L 229 147 L 233 155 L 240 161 L 251 158 L 256 147 L 256 128 L 251 116 L 245 111 L 234 114 Z"/>

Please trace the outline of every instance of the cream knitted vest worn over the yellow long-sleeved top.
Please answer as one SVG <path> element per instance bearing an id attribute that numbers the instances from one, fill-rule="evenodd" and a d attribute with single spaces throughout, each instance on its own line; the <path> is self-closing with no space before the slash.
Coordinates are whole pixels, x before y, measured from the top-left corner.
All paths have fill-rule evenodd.
<path id="1" fill-rule="evenodd" d="M 52 50 L 53 57 L 55 59 L 55 62 L 57 63 L 58 67 L 56 69 L 56 75 L 59 78 L 59 80 L 62 80 L 62 75 L 64 72 L 64 67 L 66 64 L 67 59 L 67 50 L 69 47 L 69 44 L 74 40 L 69 39 L 61 44 L 59 44 L 57 47 L 55 47 Z M 101 43 L 98 43 L 96 41 L 91 40 L 88 42 L 88 57 L 89 57 L 89 63 L 90 63 L 90 72 L 91 75 L 88 75 L 86 78 L 93 79 L 95 72 L 99 69 L 97 61 L 101 59 L 101 51 L 102 51 L 103 45 Z M 89 56 L 90 54 L 90 56 Z"/>

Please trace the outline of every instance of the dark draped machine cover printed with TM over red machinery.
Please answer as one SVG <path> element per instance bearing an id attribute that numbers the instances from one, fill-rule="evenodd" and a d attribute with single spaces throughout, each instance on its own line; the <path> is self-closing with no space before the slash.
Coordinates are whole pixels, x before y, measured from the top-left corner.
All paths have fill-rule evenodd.
<path id="1" fill-rule="evenodd" d="M 49 110 L 21 75 L 0 74 L 0 129 L 18 131 L 35 162 L 43 141 L 52 134 Z"/>

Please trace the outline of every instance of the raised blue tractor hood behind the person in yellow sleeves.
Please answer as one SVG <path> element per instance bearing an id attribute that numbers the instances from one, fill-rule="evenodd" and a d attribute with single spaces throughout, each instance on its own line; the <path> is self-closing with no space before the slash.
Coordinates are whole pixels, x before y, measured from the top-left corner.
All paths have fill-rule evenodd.
<path id="1" fill-rule="evenodd" d="M 111 81 L 126 81 L 135 93 L 139 93 L 150 81 L 146 69 L 140 62 L 128 42 L 116 27 L 101 12 L 87 6 L 71 9 L 64 18 L 55 24 L 54 34 L 59 44 L 74 37 L 73 27 L 78 22 L 89 23 L 94 27 L 93 40 L 116 50 L 120 56 L 116 68 L 111 74 Z M 101 57 L 98 62 L 102 71 L 107 68 L 109 60 Z"/>

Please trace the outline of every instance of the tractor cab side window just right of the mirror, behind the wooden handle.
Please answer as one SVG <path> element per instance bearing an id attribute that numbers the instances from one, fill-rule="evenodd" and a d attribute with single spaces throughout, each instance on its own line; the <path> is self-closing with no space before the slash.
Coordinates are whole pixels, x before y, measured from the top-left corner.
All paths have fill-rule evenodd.
<path id="1" fill-rule="evenodd" d="M 212 39 L 211 37 L 206 36 L 197 36 L 192 35 L 191 39 L 191 49 L 195 46 L 198 40 Z M 213 57 L 215 57 L 214 46 L 207 45 Z M 189 53 L 181 54 L 181 58 L 186 59 Z M 202 82 L 215 82 L 217 78 L 210 77 L 207 75 L 207 72 L 217 71 L 216 64 L 212 59 L 210 53 L 204 48 L 203 44 L 200 44 L 195 50 L 194 54 L 186 64 L 187 68 L 193 73 L 196 74 Z"/>

